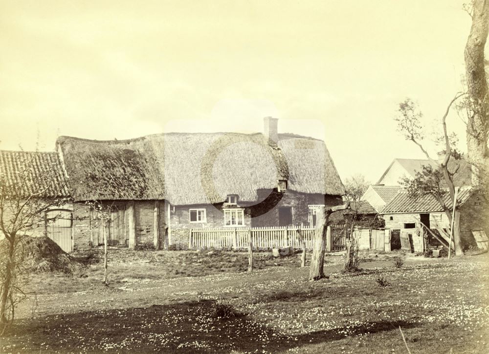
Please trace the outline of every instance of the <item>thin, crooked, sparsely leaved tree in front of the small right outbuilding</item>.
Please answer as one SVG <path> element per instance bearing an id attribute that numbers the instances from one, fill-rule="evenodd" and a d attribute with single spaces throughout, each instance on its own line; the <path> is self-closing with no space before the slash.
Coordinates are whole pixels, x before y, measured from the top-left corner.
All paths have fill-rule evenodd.
<path id="1" fill-rule="evenodd" d="M 409 98 L 404 102 L 401 102 L 399 105 L 399 116 L 395 119 L 398 123 L 398 130 L 404 134 L 404 138 L 408 141 L 412 141 L 415 143 L 423 154 L 428 158 L 434 165 L 437 166 L 435 170 L 432 168 L 425 167 L 423 168 L 423 172 L 415 178 L 414 181 L 406 181 L 408 190 L 411 189 L 411 195 L 417 196 L 421 194 L 431 194 L 441 205 L 445 214 L 450 221 L 450 225 L 452 225 L 452 213 L 450 212 L 449 205 L 445 203 L 445 195 L 449 193 L 450 199 L 455 199 L 455 183 L 453 181 L 454 175 L 458 171 L 458 167 L 455 167 L 454 170 L 450 171 L 448 167 L 448 163 L 450 159 L 458 159 L 461 157 L 461 154 L 453 148 L 454 145 L 454 136 L 449 135 L 446 129 L 446 117 L 450 111 L 453 103 L 462 97 L 463 93 L 458 93 L 452 101 L 449 103 L 446 108 L 445 114 L 442 117 L 442 126 L 443 126 L 443 137 L 439 138 L 438 141 L 444 143 L 444 158 L 439 161 L 433 159 L 427 152 L 426 148 L 423 146 L 423 140 L 425 139 L 425 134 L 423 131 L 421 118 L 422 112 L 419 110 L 419 107 Z M 459 166 L 459 165 L 457 165 Z M 443 185 L 442 188 L 442 181 Z M 413 192 L 416 190 L 416 192 Z M 455 219 L 458 221 L 458 218 Z M 462 251 L 462 243 L 460 241 L 460 225 L 458 222 L 453 223 L 453 239 L 455 243 L 455 255 L 463 255 Z"/>

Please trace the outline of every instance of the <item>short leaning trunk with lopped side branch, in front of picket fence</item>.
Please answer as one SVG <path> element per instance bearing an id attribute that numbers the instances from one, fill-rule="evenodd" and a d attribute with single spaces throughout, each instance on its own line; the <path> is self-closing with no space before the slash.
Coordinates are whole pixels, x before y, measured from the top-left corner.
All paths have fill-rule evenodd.
<path id="1" fill-rule="evenodd" d="M 324 278 L 324 252 L 326 250 L 326 233 L 330 215 L 338 210 L 345 210 L 350 203 L 338 205 L 325 209 L 321 207 L 316 213 L 316 229 L 314 231 L 314 242 L 312 243 L 311 266 L 309 268 L 309 280 Z"/>

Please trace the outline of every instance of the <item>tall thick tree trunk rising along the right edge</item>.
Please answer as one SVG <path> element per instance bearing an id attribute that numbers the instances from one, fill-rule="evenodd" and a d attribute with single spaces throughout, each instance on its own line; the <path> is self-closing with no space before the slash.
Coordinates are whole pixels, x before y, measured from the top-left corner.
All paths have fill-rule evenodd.
<path id="1" fill-rule="evenodd" d="M 488 37 L 489 1 L 472 1 L 472 26 L 465 47 L 469 117 L 467 120 L 468 161 L 477 168 L 481 190 L 489 198 L 489 97 L 484 67 Z"/>

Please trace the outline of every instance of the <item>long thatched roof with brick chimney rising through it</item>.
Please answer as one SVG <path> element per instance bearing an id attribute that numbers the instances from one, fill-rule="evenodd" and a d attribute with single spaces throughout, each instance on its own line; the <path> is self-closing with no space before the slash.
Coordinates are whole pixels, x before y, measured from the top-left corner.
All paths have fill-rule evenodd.
<path id="1" fill-rule="evenodd" d="M 164 133 L 130 140 L 60 137 L 70 188 L 77 200 L 167 199 L 216 203 L 227 194 L 257 201 L 258 189 L 287 179 L 302 193 L 343 195 L 323 141 L 279 134 L 278 149 L 261 133 Z"/>

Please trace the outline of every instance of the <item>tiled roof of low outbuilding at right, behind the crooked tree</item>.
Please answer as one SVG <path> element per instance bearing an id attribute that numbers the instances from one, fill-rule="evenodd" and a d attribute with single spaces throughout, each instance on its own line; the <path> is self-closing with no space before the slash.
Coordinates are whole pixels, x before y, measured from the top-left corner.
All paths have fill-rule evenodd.
<path id="1" fill-rule="evenodd" d="M 470 186 L 461 187 L 458 196 L 457 204 L 463 204 L 470 196 Z M 444 197 L 445 204 L 448 208 L 452 208 L 452 200 L 450 194 L 446 192 Z M 384 206 L 380 214 L 390 213 L 423 213 L 423 212 L 441 212 L 443 211 L 440 203 L 431 195 L 422 196 L 418 199 L 410 198 L 406 191 L 400 191 L 394 199 Z"/>

